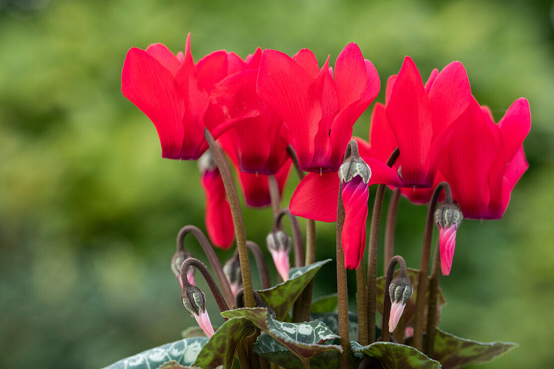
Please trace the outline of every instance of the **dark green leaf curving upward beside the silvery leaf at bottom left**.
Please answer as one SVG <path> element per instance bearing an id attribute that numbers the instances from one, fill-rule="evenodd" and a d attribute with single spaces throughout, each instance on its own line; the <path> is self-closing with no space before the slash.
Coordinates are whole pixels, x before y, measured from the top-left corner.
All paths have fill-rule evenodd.
<path id="1" fill-rule="evenodd" d="M 254 326 L 243 317 L 225 321 L 204 345 L 194 361 L 194 366 L 212 369 L 223 365 L 224 368 L 230 368 L 238 344 L 253 332 Z"/>

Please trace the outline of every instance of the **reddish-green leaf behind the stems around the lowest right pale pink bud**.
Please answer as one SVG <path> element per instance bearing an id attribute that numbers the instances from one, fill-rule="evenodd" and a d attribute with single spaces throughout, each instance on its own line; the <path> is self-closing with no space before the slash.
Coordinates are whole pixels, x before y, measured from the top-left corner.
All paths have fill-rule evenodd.
<path id="1" fill-rule="evenodd" d="M 398 275 L 400 273 L 400 269 L 397 269 L 394 273 L 394 275 Z M 404 312 L 402 313 L 402 317 L 400 318 L 400 321 L 398 323 L 398 326 L 413 326 L 414 323 L 414 317 L 416 312 L 416 299 L 417 299 L 417 286 L 418 286 L 418 273 L 419 270 L 407 268 L 407 274 L 409 280 L 412 282 L 413 286 L 413 295 L 406 303 L 406 307 L 404 307 Z M 425 294 L 425 310 L 424 310 L 424 316 L 423 321 L 427 321 L 427 301 L 429 300 L 429 280 L 427 279 L 427 293 Z M 383 314 L 383 297 L 384 297 L 384 277 L 377 278 L 377 311 Z M 437 324 L 439 324 L 440 320 L 440 310 L 442 309 L 443 305 L 446 304 L 447 301 L 444 299 L 443 293 L 439 288 L 439 301 L 437 304 Z"/>

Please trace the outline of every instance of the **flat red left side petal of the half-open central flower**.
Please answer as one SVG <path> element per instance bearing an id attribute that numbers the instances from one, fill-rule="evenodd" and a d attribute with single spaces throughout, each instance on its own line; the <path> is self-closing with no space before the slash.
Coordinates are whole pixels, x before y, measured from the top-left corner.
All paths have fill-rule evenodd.
<path id="1" fill-rule="evenodd" d="M 321 222 L 337 220 L 338 174 L 308 173 L 290 199 L 290 212 Z"/>

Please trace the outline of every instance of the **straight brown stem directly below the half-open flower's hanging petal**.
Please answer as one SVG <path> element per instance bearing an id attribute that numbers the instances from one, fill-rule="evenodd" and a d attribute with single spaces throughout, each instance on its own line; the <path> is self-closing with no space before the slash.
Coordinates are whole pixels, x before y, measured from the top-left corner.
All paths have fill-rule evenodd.
<path id="1" fill-rule="evenodd" d="M 338 335 L 342 346 L 340 368 L 350 367 L 350 337 L 348 336 L 348 288 L 346 280 L 345 253 L 342 250 L 342 225 L 345 209 L 342 204 L 342 183 L 338 185 L 337 203 L 337 293 L 338 293 Z"/>

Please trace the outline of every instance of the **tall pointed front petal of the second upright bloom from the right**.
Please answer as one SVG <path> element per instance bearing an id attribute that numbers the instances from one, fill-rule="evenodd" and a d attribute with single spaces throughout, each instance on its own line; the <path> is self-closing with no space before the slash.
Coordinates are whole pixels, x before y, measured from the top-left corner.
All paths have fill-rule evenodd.
<path id="1" fill-rule="evenodd" d="M 405 186 L 430 186 L 428 152 L 433 129 L 429 99 L 409 57 L 398 73 L 386 114 L 402 155 L 402 182 Z"/>

